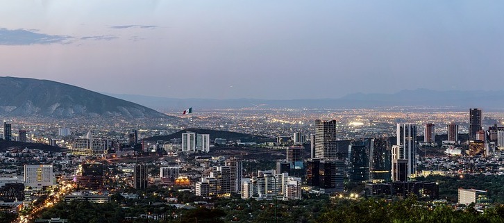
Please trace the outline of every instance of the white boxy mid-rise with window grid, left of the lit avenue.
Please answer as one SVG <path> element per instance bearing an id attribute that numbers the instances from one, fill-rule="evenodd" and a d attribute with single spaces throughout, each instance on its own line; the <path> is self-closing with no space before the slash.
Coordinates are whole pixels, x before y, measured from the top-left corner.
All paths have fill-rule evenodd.
<path id="1" fill-rule="evenodd" d="M 53 165 L 24 165 L 24 185 L 42 188 L 54 185 Z"/>

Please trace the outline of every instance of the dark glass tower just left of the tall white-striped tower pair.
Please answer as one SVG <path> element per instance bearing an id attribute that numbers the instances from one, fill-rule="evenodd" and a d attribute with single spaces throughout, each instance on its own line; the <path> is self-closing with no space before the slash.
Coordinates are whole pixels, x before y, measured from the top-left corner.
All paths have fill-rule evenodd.
<path id="1" fill-rule="evenodd" d="M 389 138 L 371 139 L 369 149 L 369 179 L 373 182 L 390 181 L 392 154 Z"/>

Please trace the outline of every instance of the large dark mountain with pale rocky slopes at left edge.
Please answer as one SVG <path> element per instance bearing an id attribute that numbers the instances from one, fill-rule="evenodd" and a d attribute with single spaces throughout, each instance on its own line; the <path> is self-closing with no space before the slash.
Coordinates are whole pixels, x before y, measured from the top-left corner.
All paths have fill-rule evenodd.
<path id="1" fill-rule="evenodd" d="M 169 117 L 90 90 L 55 81 L 0 77 L 0 115 L 40 117 Z"/>

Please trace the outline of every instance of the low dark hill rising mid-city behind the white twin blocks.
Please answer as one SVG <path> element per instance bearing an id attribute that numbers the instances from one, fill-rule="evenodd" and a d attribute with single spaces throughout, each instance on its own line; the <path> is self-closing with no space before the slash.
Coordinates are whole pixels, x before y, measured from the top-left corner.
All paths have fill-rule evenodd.
<path id="1" fill-rule="evenodd" d="M 197 134 L 210 134 L 210 138 L 224 138 L 226 140 L 242 140 L 242 142 L 264 142 L 264 140 L 271 140 L 271 138 L 267 138 L 265 136 L 260 135 L 251 135 L 246 133 L 235 133 L 231 131 L 217 131 L 210 129 L 184 129 L 182 131 L 178 131 L 171 135 L 158 135 L 149 138 L 144 138 L 144 141 L 156 142 L 158 140 L 169 141 L 171 139 L 182 138 L 182 133 L 187 131 L 197 133 Z"/>

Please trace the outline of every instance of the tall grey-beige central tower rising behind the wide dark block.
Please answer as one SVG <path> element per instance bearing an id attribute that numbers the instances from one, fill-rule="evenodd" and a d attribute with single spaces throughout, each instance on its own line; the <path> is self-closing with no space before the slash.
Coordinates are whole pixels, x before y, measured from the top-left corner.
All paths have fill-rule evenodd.
<path id="1" fill-rule="evenodd" d="M 337 158 L 336 120 L 315 120 L 315 158 Z"/>

